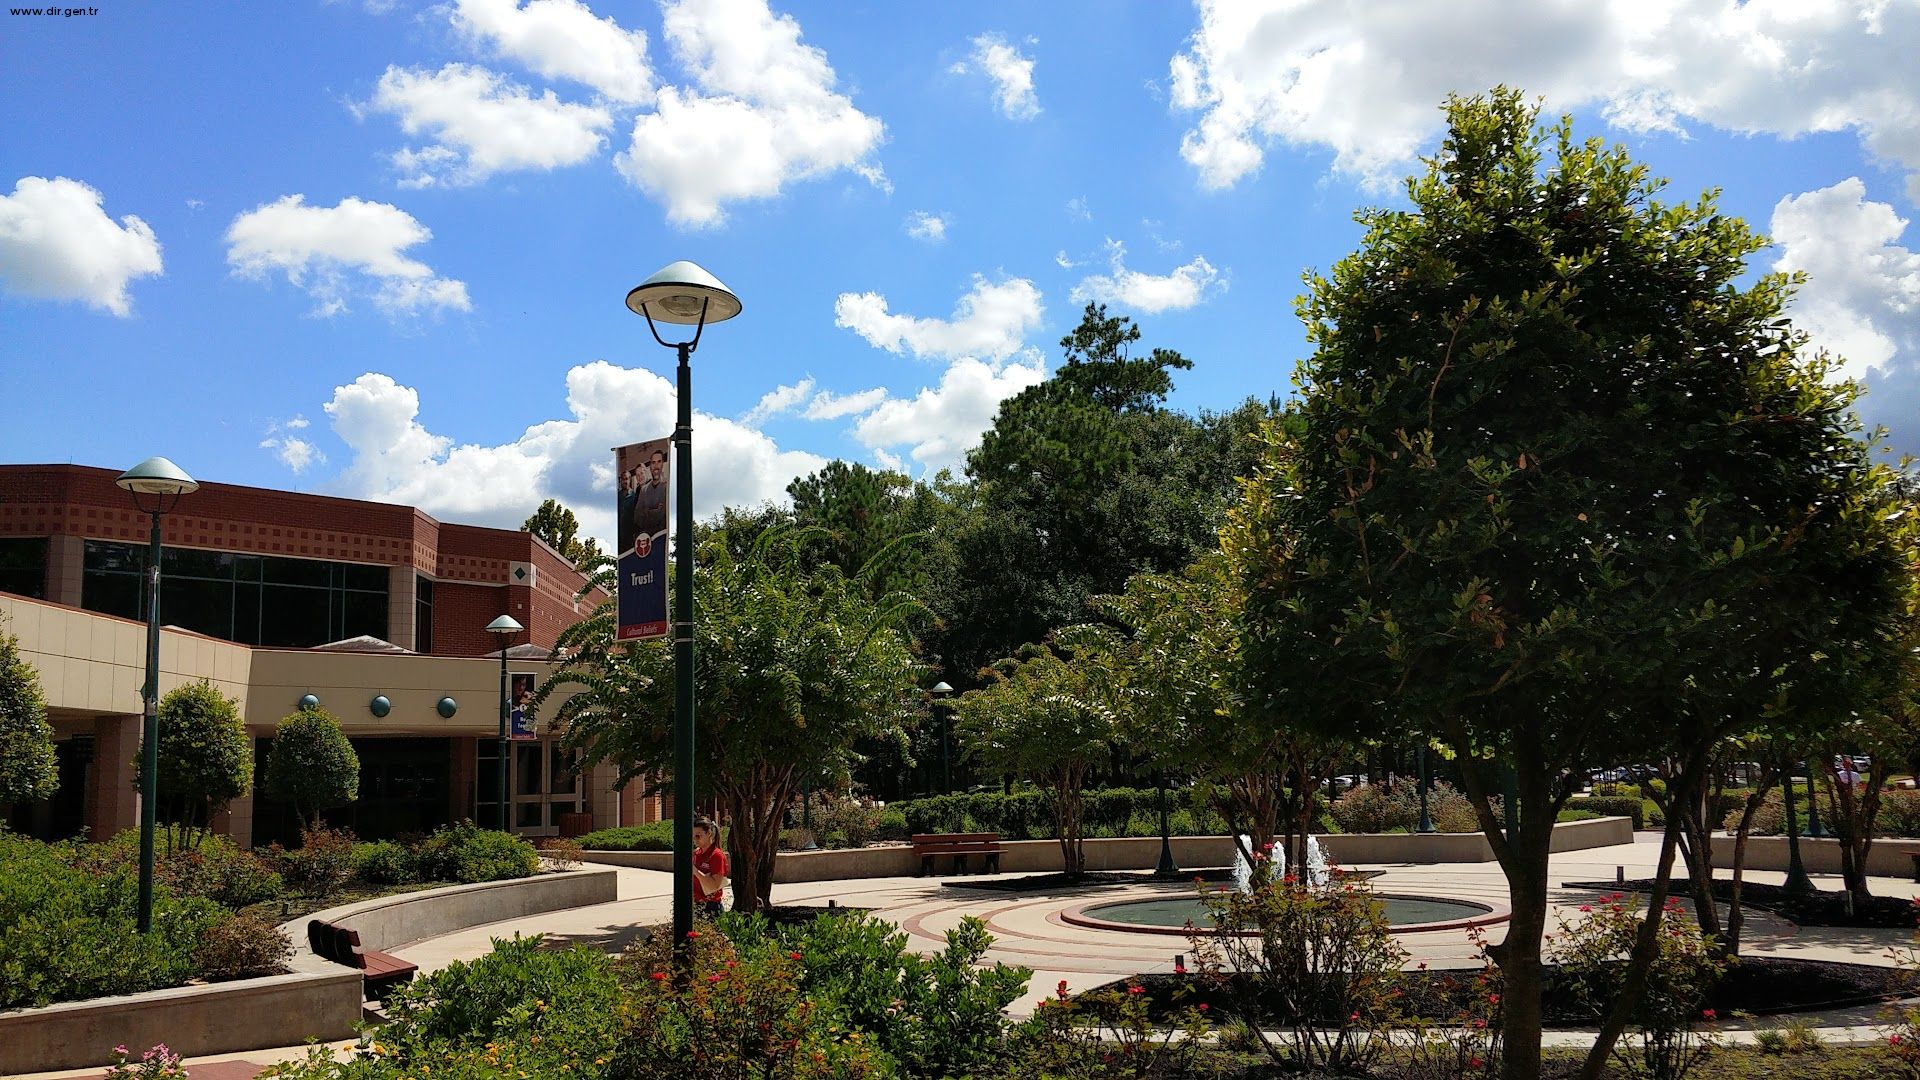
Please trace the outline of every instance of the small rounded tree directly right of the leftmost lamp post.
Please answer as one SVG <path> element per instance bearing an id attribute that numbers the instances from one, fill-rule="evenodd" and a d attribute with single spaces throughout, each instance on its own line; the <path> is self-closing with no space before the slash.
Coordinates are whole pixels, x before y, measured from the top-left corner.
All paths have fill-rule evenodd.
<path id="1" fill-rule="evenodd" d="M 144 784 L 146 759 L 134 757 L 134 782 Z M 167 821 L 167 844 L 180 836 L 198 847 L 213 822 L 253 788 L 253 740 L 246 734 L 238 703 L 211 682 L 175 686 L 159 700 L 159 774 L 154 792 Z"/>

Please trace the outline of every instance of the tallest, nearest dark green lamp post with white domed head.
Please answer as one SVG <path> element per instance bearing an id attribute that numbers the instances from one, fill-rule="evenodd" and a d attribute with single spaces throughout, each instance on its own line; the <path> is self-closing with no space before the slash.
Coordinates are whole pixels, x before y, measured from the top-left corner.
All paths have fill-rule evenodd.
<path id="1" fill-rule="evenodd" d="M 739 315 L 739 298 L 720 279 L 685 259 L 672 263 L 626 294 L 626 306 L 647 319 L 653 340 L 680 354 L 674 396 L 674 955 L 682 970 L 691 961 L 693 932 L 693 373 L 687 359 L 707 323 Z M 693 327 L 693 338 L 668 342 L 659 323 Z M 745 871 L 735 871 L 743 874 Z"/>

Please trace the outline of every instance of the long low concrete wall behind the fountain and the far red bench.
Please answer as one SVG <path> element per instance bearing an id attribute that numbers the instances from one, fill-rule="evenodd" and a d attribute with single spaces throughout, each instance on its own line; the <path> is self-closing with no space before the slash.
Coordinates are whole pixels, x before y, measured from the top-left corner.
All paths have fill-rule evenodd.
<path id="1" fill-rule="evenodd" d="M 1340 865 L 1361 863 L 1492 863 L 1494 849 L 1478 832 L 1367 832 L 1321 836 L 1327 857 Z M 1634 842 L 1634 822 L 1624 817 L 1571 821 L 1553 826 L 1555 851 L 1582 851 Z M 1004 872 L 1050 872 L 1062 867 L 1060 844 L 1054 840 L 1010 840 L 1000 853 Z M 1089 840 L 1085 844 L 1089 871 L 1150 871 L 1160 863 L 1158 836 L 1127 836 L 1117 840 Z M 588 851 L 589 863 L 611 867 L 639 867 L 672 871 L 672 851 Z M 1175 836 L 1173 861 L 1183 869 L 1233 865 L 1233 840 L 1227 836 Z M 947 871 L 948 861 L 937 867 Z M 972 859 L 979 869 L 979 855 Z M 845 847 L 835 851 L 781 851 L 774 859 L 776 884 L 824 882 L 843 878 L 899 878 L 920 872 L 920 861 L 908 846 Z"/>

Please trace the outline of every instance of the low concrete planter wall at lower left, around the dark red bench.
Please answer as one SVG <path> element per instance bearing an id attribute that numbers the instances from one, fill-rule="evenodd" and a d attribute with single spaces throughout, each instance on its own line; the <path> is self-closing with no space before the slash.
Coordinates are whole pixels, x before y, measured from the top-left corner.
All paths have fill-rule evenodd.
<path id="1" fill-rule="evenodd" d="M 317 911 L 282 926 L 294 942 L 290 974 L 0 1013 L 0 1076 L 106 1065 L 121 1043 L 134 1051 L 167 1043 L 196 1057 L 353 1038 L 361 972 L 309 953 L 307 919 L 340 922 L 359 930 L 365 947 L 390 951 L 484 922 L 612 899 L 616 872 L 570 871 Z"/>

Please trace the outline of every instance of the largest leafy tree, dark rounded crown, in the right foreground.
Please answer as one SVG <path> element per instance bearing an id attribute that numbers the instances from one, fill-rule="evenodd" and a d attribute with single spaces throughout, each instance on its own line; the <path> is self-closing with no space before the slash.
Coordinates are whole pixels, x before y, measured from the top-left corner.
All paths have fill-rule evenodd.
<path id="1" fill-rule="evenodd" d="M 1845 580 L 1828 530 L 1864 450 L 1780 319 L 1789 282 L 1740 284 L 1763 240 L 1711 194 L 1657 202 L 1622 150 L 1538 129 L 1517 92 L 1452 100 L 1448 129 L 1411 209 L 1361 213 L 1361 250 L 1308 279 L 1300 427 L 1235 553 L 1271 700 L 1455 755 L 1509 884 L 1521 1078 L 1551 828 L 1584 769 L 1676 757 L 1697 784 L 1780 671 L 1847 684 L 1812 653 L 1836 632 L 1872 651 L 1878 586 L 1797 607 Z"/>

